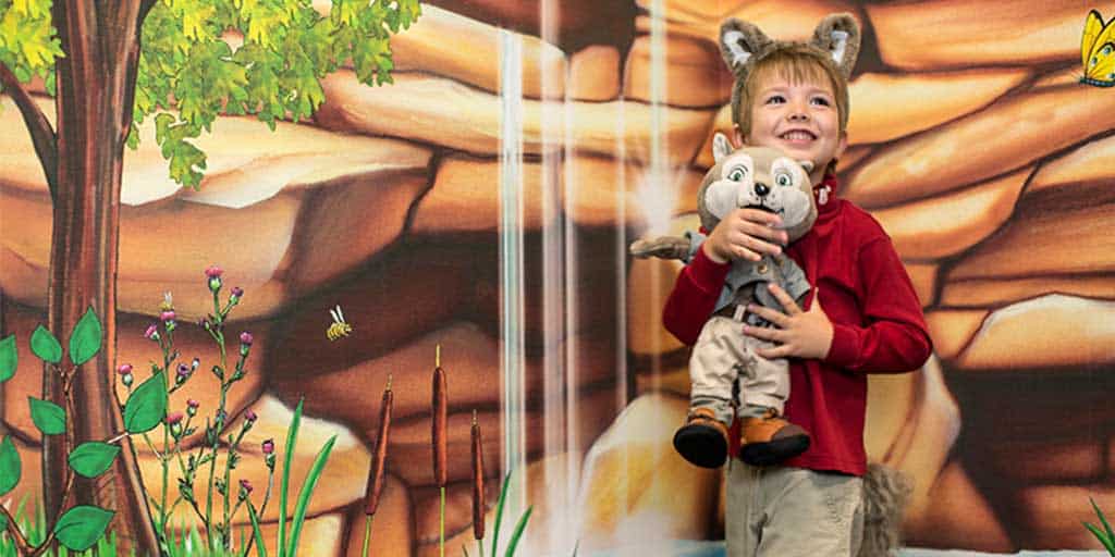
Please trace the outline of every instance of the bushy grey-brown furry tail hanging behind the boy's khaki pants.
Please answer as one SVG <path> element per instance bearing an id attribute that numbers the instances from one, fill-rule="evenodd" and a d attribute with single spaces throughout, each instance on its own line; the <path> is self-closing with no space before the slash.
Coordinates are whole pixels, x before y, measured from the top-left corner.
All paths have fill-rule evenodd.
<path id="1" fill-rule="evenodd" d="M 863 545 L 857 557 L 892 557 L 902 543 L 902 514 L 913 491 L 910 478 L 878 462 L 863 477 Z"/>

